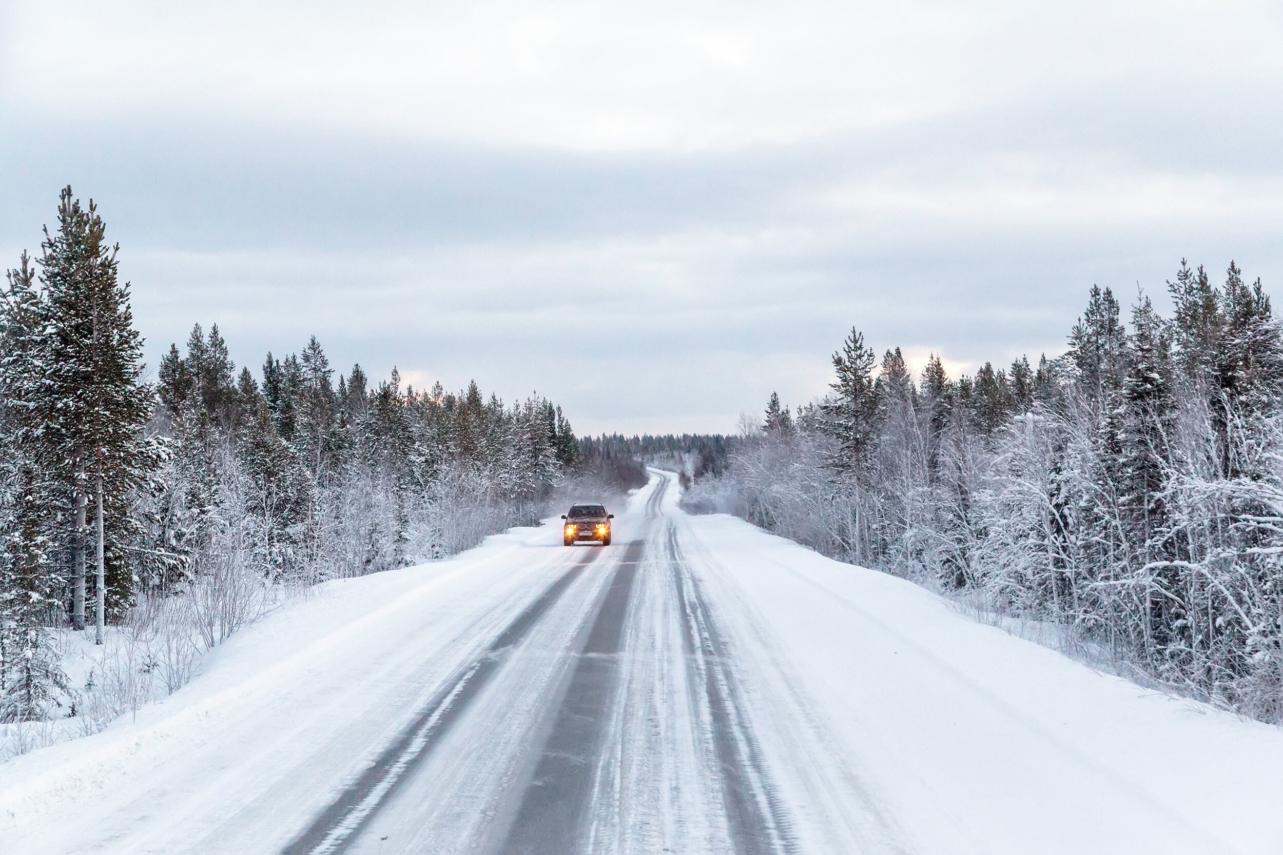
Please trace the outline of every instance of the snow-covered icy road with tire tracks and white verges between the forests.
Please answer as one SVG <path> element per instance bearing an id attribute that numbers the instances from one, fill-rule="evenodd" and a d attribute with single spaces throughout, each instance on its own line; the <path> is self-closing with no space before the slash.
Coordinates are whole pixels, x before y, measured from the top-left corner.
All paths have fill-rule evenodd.
<path id="1" fill-rule="evenodd" d="M 322 586 L 0 765 L 4 852 L 1283 852 L 1283 732 L 1097 674 L 654 473 Z M 556 522 L 556 520 L 554 520 Z"/>

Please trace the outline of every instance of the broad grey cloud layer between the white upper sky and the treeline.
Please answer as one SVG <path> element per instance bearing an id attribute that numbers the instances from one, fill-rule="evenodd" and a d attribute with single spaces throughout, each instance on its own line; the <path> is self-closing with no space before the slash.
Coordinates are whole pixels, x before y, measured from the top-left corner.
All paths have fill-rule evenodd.
<path id="1" fill-rule="evenodd" d="M 690 155 L 28 117 L 0 129 L 0 242 L 35 249 L 63 183 L 99 199 L 153 363 L 196 320 L 251 365 L 314 332 L 339 365 L 539 388 L 580 429 L 731 429 L 772 388 L 821 392 L 852 326 L 1007 361 L 1057 353 L 1093 282 L 1161 297 L 1182 256 L 1278 282 L 1279 100 L 1238 97 L 1082 90 Z M 1168 177 L 1196 190 L 1129 200 Z M 997 191 L 1085 213 L 1021 217 Z M 1117 194 L 1101 217 L 1097 192 Z"/>

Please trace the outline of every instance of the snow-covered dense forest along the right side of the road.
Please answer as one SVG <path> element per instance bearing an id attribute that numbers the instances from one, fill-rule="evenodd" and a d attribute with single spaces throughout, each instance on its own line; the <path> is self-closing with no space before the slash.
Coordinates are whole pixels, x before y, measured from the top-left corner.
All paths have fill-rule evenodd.
<path id="1" fill-rule="evenodd" d="M 688 506 L 1070 627 L 1283 720 L 1283 336 L 1260 281 L 1182 263 L 1171 317 L 1093 287 L 1069 350 L 913 377 L 852 331 L 821 401 L 771 397 Z"/>

